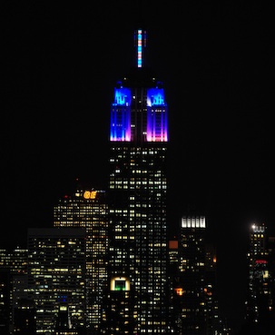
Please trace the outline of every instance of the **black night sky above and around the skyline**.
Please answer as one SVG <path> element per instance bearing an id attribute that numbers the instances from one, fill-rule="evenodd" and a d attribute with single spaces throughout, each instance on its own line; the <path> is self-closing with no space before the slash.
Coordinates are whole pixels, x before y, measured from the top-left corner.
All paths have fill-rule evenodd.
<path id="1" fill-rule="evenodd" d="M 221 310 L 239 327 L 250 223 L 274 232 L 270 9 L 140 3 L 4 5 L 0 245 L 24 245 L 27 228 L 51 226 L 76 177 L 105 188 L 113 86 L 134 65 L 142 18 L 146 61 L 169 105 L 170 225 L 189 209 L 206 214 Z"/>

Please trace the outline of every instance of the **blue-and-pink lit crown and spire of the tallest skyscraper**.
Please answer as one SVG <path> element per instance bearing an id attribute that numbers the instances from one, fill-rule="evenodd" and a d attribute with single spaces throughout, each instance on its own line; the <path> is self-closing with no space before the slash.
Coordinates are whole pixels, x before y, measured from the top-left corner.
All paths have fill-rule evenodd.
<path id="1" fill-rule="evenodd" d="M 137 30 L 134 36 L 136 67 L 114 89 L 110 141 L 134 142 L 141 138 L 142 142 L 168 142 L 167 104 L 162 83 L 144 68 L 146 32 Z"/>

